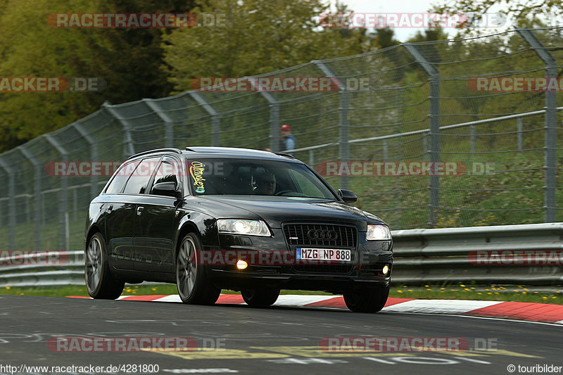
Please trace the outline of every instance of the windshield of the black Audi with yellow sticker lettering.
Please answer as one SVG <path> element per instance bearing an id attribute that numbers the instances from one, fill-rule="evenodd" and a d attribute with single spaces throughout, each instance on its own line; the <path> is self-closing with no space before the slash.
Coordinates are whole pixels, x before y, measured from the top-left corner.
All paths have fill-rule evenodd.
<path id="1" fill-rule="evenodd" d="M 300 163 L 255 159 L 189 160 L 192 193 L 293 196 L 335 200 L 329 188 Z"/>

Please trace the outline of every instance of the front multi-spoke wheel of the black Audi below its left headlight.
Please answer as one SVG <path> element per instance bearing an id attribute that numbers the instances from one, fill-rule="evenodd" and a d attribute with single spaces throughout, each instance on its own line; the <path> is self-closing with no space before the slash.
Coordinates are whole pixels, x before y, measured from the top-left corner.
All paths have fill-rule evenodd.
<path id="1" fill-rule="evenodd" d="M 201 241 L 195 233 L 187 234 L 176 256 L 176 286 L 183 303 L 191 305 L 213 305 L 221 289 L 208 283 L 205 268 L 198 265 L 198 250 Z"/>

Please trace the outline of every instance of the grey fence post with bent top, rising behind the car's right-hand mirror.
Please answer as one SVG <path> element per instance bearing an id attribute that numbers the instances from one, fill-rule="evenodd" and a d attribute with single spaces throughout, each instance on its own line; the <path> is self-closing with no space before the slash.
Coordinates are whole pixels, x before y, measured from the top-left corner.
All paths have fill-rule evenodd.
<path id="1" fill-rule="evenodd" d="M 336 76 L 334 70 L 322 60 L 313 60 L 317 68 L 326 77 L 334 78 L 339 81 L 339 160 L 345 162 L 350 160 L 350 120 L 348 119 L 348 108 L 350 107 L 350 94 L 346 82 Z M 348 189 L 348 176 L 340 177 L 340 187 Z"/>

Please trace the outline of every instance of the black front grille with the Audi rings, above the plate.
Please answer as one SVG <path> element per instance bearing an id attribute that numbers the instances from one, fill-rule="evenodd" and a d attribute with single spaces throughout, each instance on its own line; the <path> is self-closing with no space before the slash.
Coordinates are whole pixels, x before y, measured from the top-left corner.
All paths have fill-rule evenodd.
<path id="1" fill-rule="evenodd" d="M 285 224 L 289 246 L 329 246 L 356 248 L 358 229 L 334 224 Z"/>

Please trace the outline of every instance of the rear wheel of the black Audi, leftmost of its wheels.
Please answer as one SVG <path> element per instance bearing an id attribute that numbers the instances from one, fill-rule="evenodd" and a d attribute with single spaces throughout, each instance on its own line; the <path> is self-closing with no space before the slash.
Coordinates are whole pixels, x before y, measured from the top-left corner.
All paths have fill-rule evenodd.
<path id="1" fill-rule="evenodd" d="M 100 233 L 90 237 L 85 254 L 84 279 L 91 298 L 115 300 L 121 295 L 125 281 L 113 278 L 104 243 Z"/>

